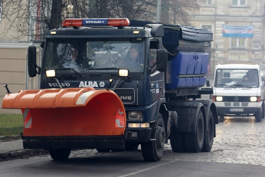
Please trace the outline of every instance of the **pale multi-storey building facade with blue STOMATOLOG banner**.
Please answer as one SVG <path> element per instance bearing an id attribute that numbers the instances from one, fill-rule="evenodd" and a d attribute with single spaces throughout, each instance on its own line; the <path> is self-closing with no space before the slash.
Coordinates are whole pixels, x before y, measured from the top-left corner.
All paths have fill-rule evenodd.
<path id="1" fill-rule="evenodd" d="M 217 64 L 264 64 L 264 0 L 205 0 L 190 11 L 193 26 L 213 31 L 210 70 Z"/>

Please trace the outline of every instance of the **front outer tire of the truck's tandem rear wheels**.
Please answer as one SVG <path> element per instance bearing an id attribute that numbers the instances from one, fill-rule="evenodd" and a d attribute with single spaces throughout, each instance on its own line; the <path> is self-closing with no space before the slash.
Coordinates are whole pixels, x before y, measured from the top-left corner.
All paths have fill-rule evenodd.
<path id="1" fill-rule="evenodd" d="M 185 133 L 185 144 L 187 152 L 201 152 L 204 141 L 204 124 L 202 110 L 200 109 L 197 116 L 196 132 Z"/>

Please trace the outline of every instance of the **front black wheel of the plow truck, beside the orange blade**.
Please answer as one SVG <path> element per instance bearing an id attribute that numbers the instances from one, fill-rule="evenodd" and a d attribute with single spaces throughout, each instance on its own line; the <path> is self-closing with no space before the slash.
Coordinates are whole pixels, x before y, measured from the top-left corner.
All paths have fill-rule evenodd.
<path id="1" fill-rule="evenodd" d="M 156 141 L 143 142 L 141 144 L 142 156 L 145 161 L 157 162 L 163 155 L 165 146 L 165 125 L 160 113 L 156 123 L 155 138 Z"/>

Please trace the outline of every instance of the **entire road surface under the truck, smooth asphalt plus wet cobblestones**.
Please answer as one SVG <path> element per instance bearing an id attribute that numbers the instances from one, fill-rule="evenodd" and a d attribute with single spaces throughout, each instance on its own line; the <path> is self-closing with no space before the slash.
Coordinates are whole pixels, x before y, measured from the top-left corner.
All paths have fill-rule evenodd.
<path id="1" fill-rule="evenodd" d="M 145 162 L 137 151 L 72 151 L 67 161 L 49 155 L 0 162 L 0 176 L 264 176 L 265 120 L 225 117 L 216 125 L 212 150 L 174 153 L 170 144 L 159 162 Z"/>

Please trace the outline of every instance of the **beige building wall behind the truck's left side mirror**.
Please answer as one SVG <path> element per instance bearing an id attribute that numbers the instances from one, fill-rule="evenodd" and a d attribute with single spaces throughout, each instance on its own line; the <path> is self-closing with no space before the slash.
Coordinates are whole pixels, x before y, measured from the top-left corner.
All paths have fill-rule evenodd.
<path id="1" fill-rule="evenodd" d="M 6 1 L 1 2 L 3 4 L 0 8 L 3 9 Z M 1 12 L 2 10 L 0 11 L 0 113 L 21 114 L 20 109 L 2 109 L 2 100 L 7 94 L 4 84 L 7 84 L 13 93 L 38 88 L 38 77 L 30 78 L 27 73 L 27 50 L 28 46 L 33 44 L 33 40 L 19 31 L 12 30 L 8 21 L 2 18 Z M 19 22 L 19 19 L 16 22 Z"/>

